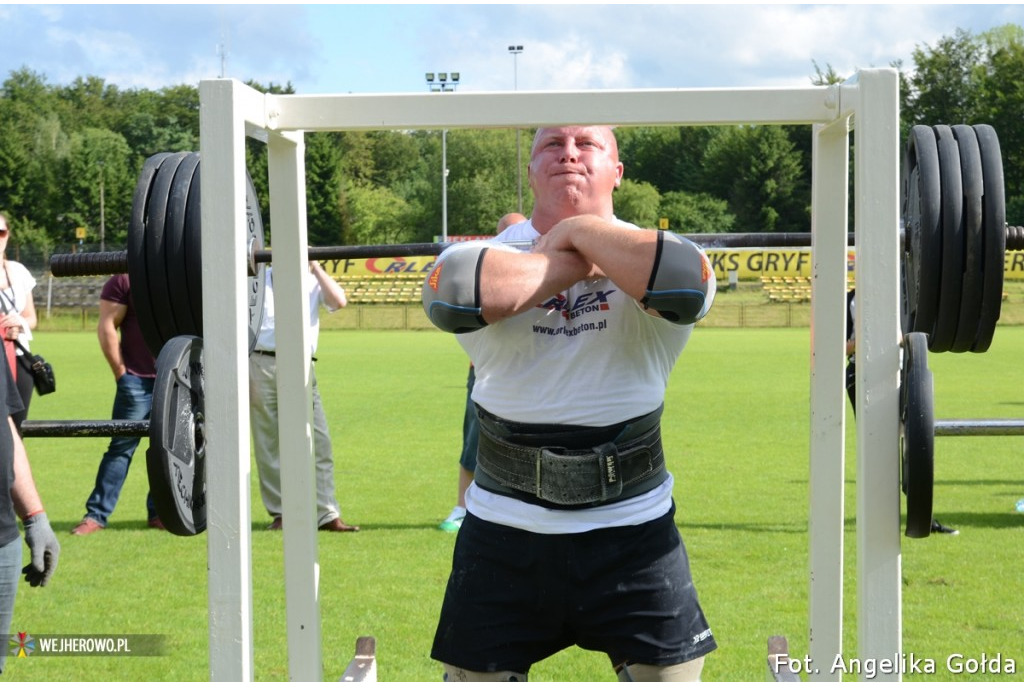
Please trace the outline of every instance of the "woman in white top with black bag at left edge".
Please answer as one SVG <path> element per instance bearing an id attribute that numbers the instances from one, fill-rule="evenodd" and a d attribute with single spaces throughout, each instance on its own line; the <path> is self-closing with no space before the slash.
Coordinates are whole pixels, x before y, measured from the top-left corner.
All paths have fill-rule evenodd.
<path id="1" fill-rule="evenodd" d="M 29 416 L 32 391 L 36 387 L 32 361 L 28 356 L 32 331 L 38 325 L 36 303 L 32 296 L 36 279 L 25 265 L 7 259 L 9 240 L 10 223 L 5 215 L 0 214 L 0 261 L 3 265 L 0 269 L 0 334 L 3 337 L 7 363 L 11 367 L 17 393 L 22 398 L 23 409 L 14 415 L 14 426 L 20 434 L 22 422 Z"/>

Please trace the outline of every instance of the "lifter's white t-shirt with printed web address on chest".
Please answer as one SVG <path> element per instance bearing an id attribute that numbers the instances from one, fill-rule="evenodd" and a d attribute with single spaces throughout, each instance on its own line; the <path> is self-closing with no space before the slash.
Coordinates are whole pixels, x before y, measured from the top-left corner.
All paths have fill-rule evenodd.
<path id="1" fill-rule="evenodd" d="M 490 243 L 539 237 L 526 221 Z M 473 400 L 487 412 L 521 423 L 609 426 L 662 405 L 692 330 L 652 316 L 608 279 L 595 279 L 457 338 L 475 367 Z M 466 495 L 475 516 L 545 533 L 642 523 L 668 512 L 671 500 L 671 477 L 637 498 L 584 510 L 547 509 L 475 484 Z"/>

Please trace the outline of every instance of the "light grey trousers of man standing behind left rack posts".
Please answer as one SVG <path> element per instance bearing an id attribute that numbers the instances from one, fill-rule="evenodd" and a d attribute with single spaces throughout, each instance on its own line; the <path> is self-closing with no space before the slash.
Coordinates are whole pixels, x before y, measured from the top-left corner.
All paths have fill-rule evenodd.
<path id="1" fill-rule="evenodd" d="M 334 496 L 334 452 L 321 402 L 316 375 L 313 382 L 313 458 L 316 464 L 316 525 L 341 518 Z M 259 473 L 259 491 L 270 516 L 281 516 L 281 439 L 278 433 L 278 363 L 269 354 L 249 357 L 249 421 Z M 287 458 L 286 458 L 287 460 Z"/>

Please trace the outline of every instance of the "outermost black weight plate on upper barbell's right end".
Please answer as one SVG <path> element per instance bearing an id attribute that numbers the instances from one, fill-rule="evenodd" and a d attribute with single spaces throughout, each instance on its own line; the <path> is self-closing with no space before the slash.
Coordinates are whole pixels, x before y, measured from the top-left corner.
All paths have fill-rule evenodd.
<path id="1" fill-rule="evenodd" d="M 1002 306 L 1004 260 L 1007 252 L 1007 206 L 1002 181 L 1002 156 L 995 130 L 987 124 L 974 127 L 981 152 L 981 169 L 984 177 L 984 259 L 982 260 L 982 296 L 978 335 L 971 348 L 985 352 L 992 344 L 995 323 L 999 320 Z"/>

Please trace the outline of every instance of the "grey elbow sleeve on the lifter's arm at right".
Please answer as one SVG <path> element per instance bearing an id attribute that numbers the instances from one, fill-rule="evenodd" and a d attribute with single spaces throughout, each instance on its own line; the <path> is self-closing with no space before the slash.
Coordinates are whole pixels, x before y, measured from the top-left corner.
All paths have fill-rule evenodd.
<path id="1" fill-rule="evenodd" d="M 716 283 L 715 270 L 700 248 L 659 230 L 654 266 L 640 303 L 670 322 L 693 324 L 711 308 Z"/>

